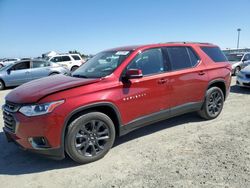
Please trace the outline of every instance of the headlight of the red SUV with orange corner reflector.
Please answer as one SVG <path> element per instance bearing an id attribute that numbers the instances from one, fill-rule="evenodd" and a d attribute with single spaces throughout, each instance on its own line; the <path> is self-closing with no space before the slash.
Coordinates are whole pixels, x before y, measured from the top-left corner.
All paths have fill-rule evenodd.
<path id="1" fill-rule="evenodd" d="M 22 106 L 19 109 L 19 112 L 21 112 L 25 116 L 40 116 L 52 112 L 56 107 L 63 103 L 64 100 L 44 104 Z"/>

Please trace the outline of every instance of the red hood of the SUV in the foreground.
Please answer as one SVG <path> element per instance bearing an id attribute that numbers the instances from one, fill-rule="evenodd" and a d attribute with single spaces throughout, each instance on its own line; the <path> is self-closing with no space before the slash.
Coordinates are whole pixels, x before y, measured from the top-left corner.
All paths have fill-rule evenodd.
<path id="1" fill-rule="evenodd" d="M 13 103 L 35 103 L 49 94 L 98 81 L 100 79 L 74 78 L 64 75 L 49 76 L 15 88 L 5 99 Z"/>

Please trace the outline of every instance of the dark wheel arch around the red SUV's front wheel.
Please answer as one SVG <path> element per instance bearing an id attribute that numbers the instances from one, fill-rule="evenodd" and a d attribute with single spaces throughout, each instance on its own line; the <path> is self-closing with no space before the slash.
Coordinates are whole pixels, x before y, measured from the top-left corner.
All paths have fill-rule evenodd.
<path id="1" fill-rule="evenodd" d="M 68 128 L 69 124 L 77 117 L 79 117 L 83 114 L 86 114 L 88 112 L 93 112 L 93 111 L 102 112 L 102 113 L 106 114 L 107 116 L 109 116 L 110 119 L 114 123 L 116 136 L 120 136 L 121 116 L 120 116 L 120 112 L 119 112 L 118 108 L 114 104 L 109 103 L 109 102 L 94 103 L 91 105 L 79 107 L 79 108 L 75 109 L 74 111 L 72 111 L 68 115 L 68 117 L 66 118 L 66 120 L 64 122 L 63 130 L 61 133 L 61 146 L 63 148 L 65 145 L 65 143 L 64 143 L 65 142 L 65 135 L 68 131 L 67 128 Z"/>

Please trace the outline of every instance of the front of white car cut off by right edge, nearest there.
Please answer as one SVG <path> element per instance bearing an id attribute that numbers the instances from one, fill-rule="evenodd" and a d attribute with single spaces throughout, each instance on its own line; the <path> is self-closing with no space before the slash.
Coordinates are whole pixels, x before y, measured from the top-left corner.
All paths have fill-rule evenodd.
<path id="1" fill-rule="evenodd" d="M 237 74 L 236 85 L 250 88 L 250 65 L 246 66 Z"/>

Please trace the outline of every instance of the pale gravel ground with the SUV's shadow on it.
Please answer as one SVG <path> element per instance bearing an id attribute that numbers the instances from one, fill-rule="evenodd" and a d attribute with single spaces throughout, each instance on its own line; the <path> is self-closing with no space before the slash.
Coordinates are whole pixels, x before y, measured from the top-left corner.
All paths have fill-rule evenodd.
<path id="1" fill-rule="evenodd" d="M 0 104 L 8 92 L 0 92 Z M 141 128 L 87 165 L 21 151 L 7 143 L 2 129 L 0 151 L 3 188 L 250 187 L 250 89 L 233 79 L 217 119 L 203 121 L 191 113 Z"/>

